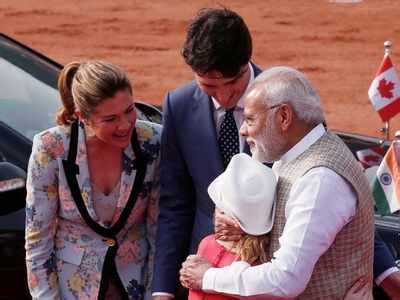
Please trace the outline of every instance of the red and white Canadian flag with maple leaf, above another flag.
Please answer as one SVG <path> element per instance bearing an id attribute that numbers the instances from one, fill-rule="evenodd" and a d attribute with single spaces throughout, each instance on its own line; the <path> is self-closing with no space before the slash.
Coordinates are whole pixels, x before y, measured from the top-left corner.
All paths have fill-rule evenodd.
<path id="1" fill-rule="evenodd" d="M 388 54 L 383 57 L 368 96 L 382 121 L 386 122 L 400 112 L 400 82 Z"/>

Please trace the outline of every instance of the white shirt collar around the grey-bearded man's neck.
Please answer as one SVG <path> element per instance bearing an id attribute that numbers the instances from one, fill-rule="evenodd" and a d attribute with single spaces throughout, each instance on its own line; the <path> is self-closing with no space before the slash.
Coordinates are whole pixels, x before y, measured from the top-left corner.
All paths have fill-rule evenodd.
<path id="1" fill-rule="evenodd" d="M 275 175 L 278 176 L 279 171 L 284 164 L 296 159 L 300 154 L 311 147 L 311 145 L 314 144 L 321 136 L 323 136 L 325 132 L 326 130 L 322 123 L 315 126 L 296 145 L 286 152 L 280 160 L 274 163 L 272 170 L 274 171 Z"/>

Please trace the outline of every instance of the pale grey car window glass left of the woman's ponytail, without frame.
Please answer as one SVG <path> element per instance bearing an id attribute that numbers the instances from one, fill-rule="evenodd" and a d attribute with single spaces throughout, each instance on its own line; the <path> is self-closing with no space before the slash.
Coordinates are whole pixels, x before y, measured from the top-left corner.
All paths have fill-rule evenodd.
<path id="1" fill-rule="evenodd" d="M 0 57 L 0 120 L 32 137 L 54 126 L 57 90 Z"/>

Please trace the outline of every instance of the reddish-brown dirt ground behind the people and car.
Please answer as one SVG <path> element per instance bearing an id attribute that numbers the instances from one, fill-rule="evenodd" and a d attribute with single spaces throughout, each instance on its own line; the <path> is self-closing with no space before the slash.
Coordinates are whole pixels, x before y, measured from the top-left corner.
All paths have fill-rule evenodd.
<path id="1" fill-rule="evenodd" d="M 217 3 L 244 17 L 254 62 L 308 74 L 331 128 L 379 136 L 382 123 L 367 91 L 387 39 L 400 75 L 398 0 L 1 0 L 0 30 L 63 64 L 117 63 L 128 71 L 137 99 L 160 104 L 167 90 L 192 79 L 180 56 L 188 21 Z M 400 129 L 399 116 L 391 126 L 392 133 Z"/>

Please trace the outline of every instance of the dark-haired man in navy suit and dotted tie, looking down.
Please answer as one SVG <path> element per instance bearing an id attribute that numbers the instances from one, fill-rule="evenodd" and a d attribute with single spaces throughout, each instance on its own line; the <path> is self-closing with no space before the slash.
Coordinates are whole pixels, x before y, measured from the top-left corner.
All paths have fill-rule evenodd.
<path id="1" fill-rule="evenodd" d="M 174 297 L 181 263 L 213 231 L 208 185 L 235 153 L 249 153 L 238 129 L 242 96 L 261 72 L 251 54 L 249 30 L 231 10 L 203 9 L 189 26 L 182 55 L 195 80 L 169 92 L 163 106 L 154 299 Z"/>

